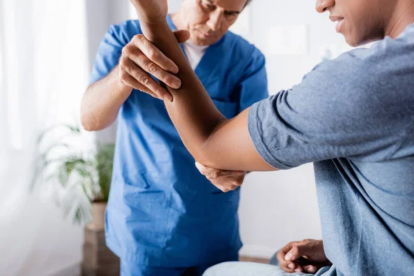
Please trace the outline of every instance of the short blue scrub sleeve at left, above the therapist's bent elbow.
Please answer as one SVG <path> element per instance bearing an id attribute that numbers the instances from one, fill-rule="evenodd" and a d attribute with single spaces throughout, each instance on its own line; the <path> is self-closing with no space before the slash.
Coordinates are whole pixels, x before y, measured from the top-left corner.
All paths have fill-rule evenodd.
<path id="1" fill-rule="evenodd" d="M 118 64 L 122 48 L 128 43 L 122 26 L 111 25 L 103 36 L 92 66 L 90 84 L 99 81 Z"/>

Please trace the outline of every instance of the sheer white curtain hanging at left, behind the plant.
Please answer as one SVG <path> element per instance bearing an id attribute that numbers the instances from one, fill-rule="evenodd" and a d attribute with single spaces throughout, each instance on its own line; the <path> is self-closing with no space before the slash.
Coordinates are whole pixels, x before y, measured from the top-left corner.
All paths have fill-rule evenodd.
<path id="1" fill-rule="evenodd" d="M 80 261 L 81 228 L 28 184 L 41 130 L 79 120 L 86 31 L 84 1 L 0 0 L 1 275 L 54 275 Z"/>

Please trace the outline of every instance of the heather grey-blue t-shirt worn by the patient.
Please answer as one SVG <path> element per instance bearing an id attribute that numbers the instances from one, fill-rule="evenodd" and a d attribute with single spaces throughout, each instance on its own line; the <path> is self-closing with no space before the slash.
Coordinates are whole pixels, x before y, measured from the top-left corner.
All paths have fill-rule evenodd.
<path id="1" fill-rule="evenodd" d="M 329 273 L 414 275 L 414 25 L 256 103 L 248 128 L 271 166 L 314 162 Z"/>

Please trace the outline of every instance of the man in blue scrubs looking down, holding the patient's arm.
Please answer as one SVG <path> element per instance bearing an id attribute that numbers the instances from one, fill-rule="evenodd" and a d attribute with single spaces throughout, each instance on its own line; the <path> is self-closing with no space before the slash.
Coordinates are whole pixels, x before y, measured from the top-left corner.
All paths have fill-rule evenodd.
<path id="1" fill-rule="evenodd" d="M 190 31 L 190 41 L 181 45 L 188 61 L 215 106 L 231 118 L 268 92 L 264 56 L 228 32 L 247 1 L 221 3 L 185 0 L 168 16 L 168 25 Z M 128 75 L 139 69 L 137 45 L 143 41 L 137 34 L 137 20 L 110 26 L 81 106 L 86 130 L 101 130 L 118 118 L 106 244 L 121 258 L 121 275 L 201 275 L 209 266 L 237 260 L 242 246 L 239 189 L 222 193 L 209 179 L 218 186 L 239 186 L 245 172 L 212 170 L 209 179 L 200 174 L 164 101 L 141 92 L 158 86 L 155 78 Z M 154 66 L 147 65 L 149 70 Z M 171 86 L 179 81 L 153 75 Z M 158 98 L 171 100 L 166 90 L 157 92 Z"/>

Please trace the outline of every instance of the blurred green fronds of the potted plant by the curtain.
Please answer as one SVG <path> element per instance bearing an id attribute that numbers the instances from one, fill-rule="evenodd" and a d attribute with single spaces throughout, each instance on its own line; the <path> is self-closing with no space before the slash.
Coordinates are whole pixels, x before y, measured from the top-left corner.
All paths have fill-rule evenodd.
<path id="1" fill-rule="evenodd" d="M 59 137 L 53 137 L 53 133 Z M 37 139 L 38 158 L 34 164 L 31 190 L 48 185 L 56 193 L 55 203 L 64 217 L 75 224 L 92 218 L 91 203 L 108 201 L 114 144 L 97 145 L 82 152 L 73 140 L 81 137 L 79 126 L 58 125 L 44 130 Z"/>

